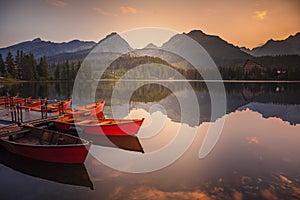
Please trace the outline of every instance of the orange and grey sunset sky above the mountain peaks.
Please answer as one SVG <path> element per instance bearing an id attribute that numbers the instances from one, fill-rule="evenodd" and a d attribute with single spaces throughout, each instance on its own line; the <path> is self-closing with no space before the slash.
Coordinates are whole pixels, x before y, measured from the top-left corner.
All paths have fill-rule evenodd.
<path id="1" fill-rule="evenodd" d="M 98 42 L 111 32 L 202 30 L 238 46 L 300 32 L 299 0 L 2 0 L 0 47 L 40 37 Z"/>

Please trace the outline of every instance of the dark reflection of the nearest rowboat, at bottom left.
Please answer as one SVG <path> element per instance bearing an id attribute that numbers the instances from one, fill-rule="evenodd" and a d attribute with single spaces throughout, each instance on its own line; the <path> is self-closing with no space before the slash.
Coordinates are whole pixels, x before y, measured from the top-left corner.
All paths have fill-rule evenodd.
<path id="1" fill-rule="evenodd" d="M 29 176 L 93 190 L 93 183 L 84 164 L 58 164 L 33 160 L 12 154 L 3 147 L 0 147 L 0 163 Z"/>

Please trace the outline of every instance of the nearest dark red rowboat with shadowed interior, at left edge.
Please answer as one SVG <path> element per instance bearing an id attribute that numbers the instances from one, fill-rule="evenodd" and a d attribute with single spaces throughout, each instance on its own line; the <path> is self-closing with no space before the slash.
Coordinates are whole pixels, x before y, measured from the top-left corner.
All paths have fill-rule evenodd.
<path id="1" fill-rule="evenodd" d="M 83 163 L 91 145 L 79 137 L 29 126 L 1 129 L 0 144 L 14 154 L 55 163 Z"/>

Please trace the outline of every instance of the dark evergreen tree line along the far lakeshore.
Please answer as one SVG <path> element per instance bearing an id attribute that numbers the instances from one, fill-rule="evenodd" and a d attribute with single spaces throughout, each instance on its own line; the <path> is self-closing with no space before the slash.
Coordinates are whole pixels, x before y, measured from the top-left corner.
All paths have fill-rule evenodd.
<path id="1" fill-rule="evenodd" d="M 232 67 L 219 66 L 218 69 L 225 80 L 300 80 L 300 56 L 298 55 L 264 56 L 253 58 L 253 60 L 262 64 L 265 70 L 254 68 L 250 72 L 245 72 L 242 65 Z M 158 65 L 156 68 L 152 67 L 149 69 L 145 66 L 139 72 L 135 71 L 132 73 L 130 78 L 179 78 L 176 77 L 176 73 L 173 73 L 172 70 L 162 68 L 159 65 L 171 67 L 189 80 L 202 80 L 201 74 L 206 74 L 207 77 L 214 77 L 214 73 L 216 73 L 212 69 L 203 68 L 200 74 L 196 69 L 179 68 L 158 57 L 123 55 L 111 63 L 101 78 L 118 79 L 134 67 L 151 63 Z M 8 52 L 5 59 L 0 54 L 0 75 L 7 78 L 29 81 L 75 80 L 80 67 L 81 61 L 75 63 L 68 60 L 49 65 L 45 56 L 37 61 L 32 53 L 26 54 L 23 51 L 17 51 L 15 57 L 11 52 Z M 90 72 L 90 75 L 86 76 L 84 80 L 91 79 L 92 74 Z"/>

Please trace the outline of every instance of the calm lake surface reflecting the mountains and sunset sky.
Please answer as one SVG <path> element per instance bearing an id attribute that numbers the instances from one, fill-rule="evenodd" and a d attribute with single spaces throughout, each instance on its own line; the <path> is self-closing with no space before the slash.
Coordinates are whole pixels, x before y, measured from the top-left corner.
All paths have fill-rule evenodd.
<path id="1" fill-rule="evenodd" d="M 134 84 L 126 83 L 124 92 Z M 134 168 L 132 165 L 138 166 L 143 160 L 127 163 L 126 158 L 113 157 L 111 152 L 147 156 L 168 145 L 180 126 L 196 131 L 192 145 L 174 163 L 136 174 L 112 169 L 91 154 L 84 165 L 66 166 L 21 158 L 0 149 L 1 199 L 300 199 L 299 83 L 225 83 L 226 114 L 211 119 L 205 84 L 192 82 L 198 105 L 190 106 L 200 108 L 200 119 L 196 121 L 193 113 L 181 113 L 177 101 L 178 96 L 188 101 L 191 91 L 180 82 L 167 84 L 175 84 L 175 91 L 159 83 L 135 90 L 129 111 L 119 113 L 120 117 L 145 117 L 137 136 L 145 153 L 103 148 L 106 157 L 120 159 L 122 165 Z M 65 99 L 71 97 L 72 86 L 68 82 L 1 85 L 0 93 Z M 107 117 L 112 116 L 110 98 L 114 87 L 114 82 L 100 82 L 96 90 L 96 98 L 107 102 Z M 126 102 L 122 95 L 119 97 L 116 102 L 122 106 Z M 181 115 L 185 115 L 184 120 Z M 225 119 L 220 138 L 200 159 L 206 131 L 209 126 L 217 126 L 220 119 Z M 149 129 L 155 128 L 151 135 Z"/>

